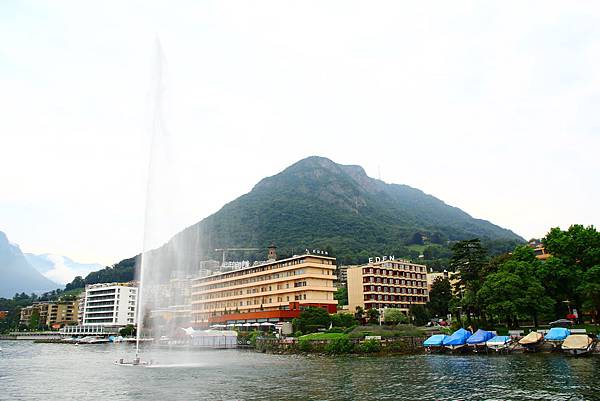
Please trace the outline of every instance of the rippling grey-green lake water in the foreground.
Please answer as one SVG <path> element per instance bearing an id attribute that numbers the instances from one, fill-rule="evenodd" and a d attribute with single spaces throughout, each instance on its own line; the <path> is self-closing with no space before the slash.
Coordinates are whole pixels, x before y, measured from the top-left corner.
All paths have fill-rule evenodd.
<path id="1" fill-rule="evenodd" d="M 0 341 L 2 400 L 588 400 L 600 356 L 324 357 Z"/>

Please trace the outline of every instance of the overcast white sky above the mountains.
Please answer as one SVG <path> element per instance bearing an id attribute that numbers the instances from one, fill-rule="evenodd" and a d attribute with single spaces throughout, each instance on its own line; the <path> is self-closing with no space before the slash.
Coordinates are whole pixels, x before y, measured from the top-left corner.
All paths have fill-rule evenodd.
<path id="1" fill-rule="evenodd" d="M 2 1 L 0 230 L 111 265 L 311 155 L 526 239 L 597 226 L 599 20 L 591 1 Z"/>

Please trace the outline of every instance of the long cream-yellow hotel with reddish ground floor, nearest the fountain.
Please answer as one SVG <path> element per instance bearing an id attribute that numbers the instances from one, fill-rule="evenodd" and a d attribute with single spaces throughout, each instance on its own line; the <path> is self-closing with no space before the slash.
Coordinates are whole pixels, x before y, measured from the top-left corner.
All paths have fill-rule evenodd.
<path id="1" fill-rule="evenodd" d="M 335 313 L 335 258 L 296 255 L 192 280 L 192 325 L 288 321 L 307 306 Z"/>

